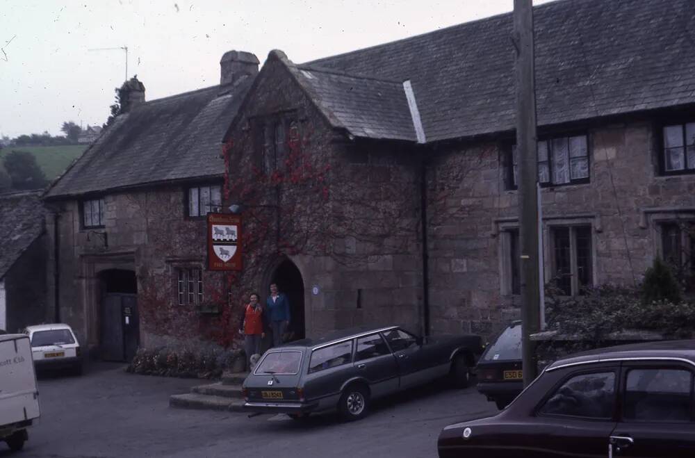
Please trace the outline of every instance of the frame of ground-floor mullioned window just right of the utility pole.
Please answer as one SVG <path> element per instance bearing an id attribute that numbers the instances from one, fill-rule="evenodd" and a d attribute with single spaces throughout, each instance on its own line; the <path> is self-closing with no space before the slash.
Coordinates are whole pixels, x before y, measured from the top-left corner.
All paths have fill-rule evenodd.
<path id="1" fill-rule="evenodd" d="M 587 285 L 589 287 L 596 284 L 596 254 L 594 249 L 596 247 L 596 240 L 594 240 L 594 225 L 591 222 L 575 222 L 572 224 L 548 224 L 548 256 L 547 265 L 550 270 L 548 272 L 550 275 L 546 276 L 548 281 L 552 281 L 557 276 L 557 259 L 556 259 L 556 231 L 567 229 L 569 234 L 569 249 L 570 249 L 570 294 L 569 296 L 581 295 L 581 288 L 579 281 L 579 265 L 578 265 L 578 248 L 577 248 L 577 229 L 588 229 L 589 230 L 589 279 L 591 284 Z"/>

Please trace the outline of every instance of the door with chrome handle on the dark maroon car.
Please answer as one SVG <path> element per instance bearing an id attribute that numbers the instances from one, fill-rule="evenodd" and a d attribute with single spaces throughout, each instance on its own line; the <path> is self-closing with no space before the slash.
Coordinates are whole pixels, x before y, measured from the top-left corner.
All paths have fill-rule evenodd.
<path id="1" fill-rule="evenodd" d="M 614 457 L 695 457 L 693 374 L 687 366 L 623 363 Z"/>

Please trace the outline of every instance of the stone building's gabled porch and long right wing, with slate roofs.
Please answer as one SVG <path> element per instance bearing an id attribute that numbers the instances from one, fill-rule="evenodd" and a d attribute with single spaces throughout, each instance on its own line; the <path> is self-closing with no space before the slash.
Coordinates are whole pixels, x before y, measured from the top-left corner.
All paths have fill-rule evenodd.
<path id="1" fill-rule="evenodd" d="M 637 284 L 655 256 L 693 268 L 692 2 L 556 1 L 534 20 L 546 281 L 578 295 Z M 272 51 L 225 137 L 245 284 L 291 265 L 307 334 L 517 317 L 511 33 L 506 14 L 303 65 Z"/>

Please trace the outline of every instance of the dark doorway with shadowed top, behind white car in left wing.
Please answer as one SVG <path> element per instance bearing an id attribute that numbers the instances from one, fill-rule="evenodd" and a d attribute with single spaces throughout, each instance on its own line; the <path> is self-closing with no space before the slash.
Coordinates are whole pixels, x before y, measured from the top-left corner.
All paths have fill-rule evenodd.
<path id="1" fill-rule="evenodd" d="M 130 361 L 140 345 L 138 281 L 133 270 L 99 272 L 99 347 L 105 361 Z"/>

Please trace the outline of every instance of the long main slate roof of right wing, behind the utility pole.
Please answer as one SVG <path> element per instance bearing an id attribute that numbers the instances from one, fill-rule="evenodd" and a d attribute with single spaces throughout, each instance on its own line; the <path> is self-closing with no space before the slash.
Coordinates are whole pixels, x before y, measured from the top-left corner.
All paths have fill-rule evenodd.
<path id="1" fill-rule="evenodd" d="M 541 126 L 695 103 L 693 0 L 560 0 L 534 8 L 534 28 Z M 511 35 L 509 13 L 300 68 L 411 80 L 427 141 L 510 131 Z M 344 88 L 327 83 L 320 97 L 344 101 Z M 343 126 L 371 108 L 354 104 L 343 104 Z"/>

